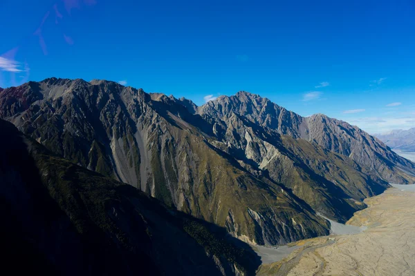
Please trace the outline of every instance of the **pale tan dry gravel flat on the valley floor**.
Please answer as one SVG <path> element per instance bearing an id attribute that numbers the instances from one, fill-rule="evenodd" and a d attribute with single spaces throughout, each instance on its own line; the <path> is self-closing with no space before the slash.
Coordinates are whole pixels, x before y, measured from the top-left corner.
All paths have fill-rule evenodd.
<path id="1" fill-rule="evenodd" d="M 258 274 L 415 275 L 415 191 L 389 188 L 365 202 L 347 222 L 365 232 L 300 241 L 304 247 Z"/>

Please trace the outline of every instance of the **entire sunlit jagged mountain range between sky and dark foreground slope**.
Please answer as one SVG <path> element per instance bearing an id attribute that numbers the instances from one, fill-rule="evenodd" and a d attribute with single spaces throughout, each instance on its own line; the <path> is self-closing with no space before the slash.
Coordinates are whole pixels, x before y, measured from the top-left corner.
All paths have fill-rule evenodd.
<path id="1" fill-rule="evenodd" d="M 75 164 L 256 244 L 325 235 L 415 165 L 366 132 L 239 92 L 198 107 L 112 81 L 0 92 L 0 117 Z"/>

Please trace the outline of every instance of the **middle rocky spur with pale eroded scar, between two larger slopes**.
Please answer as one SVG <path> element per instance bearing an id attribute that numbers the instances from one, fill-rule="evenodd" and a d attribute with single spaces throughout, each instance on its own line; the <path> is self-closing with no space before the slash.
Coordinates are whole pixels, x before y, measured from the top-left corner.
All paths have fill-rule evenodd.
<path id="1" fill-rule="evenodd" d="M 233 112 L 215 121 L 214 132 L 215 139 L 208 139 L 212 146 L 264 181 L 284 184 L 314 210 L 339 221 L 365 208 L 362 199 L 387 187 L 376 173 L 348 157 L 259 127 Z"/>

